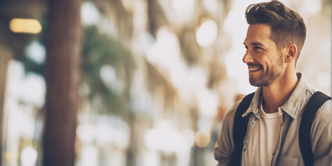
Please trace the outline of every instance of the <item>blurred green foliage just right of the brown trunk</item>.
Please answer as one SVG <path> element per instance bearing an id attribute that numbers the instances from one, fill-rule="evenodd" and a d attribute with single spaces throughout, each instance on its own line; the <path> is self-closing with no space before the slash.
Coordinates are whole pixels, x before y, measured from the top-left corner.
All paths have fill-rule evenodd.
<path id="1" fill-rule="evenodd" d="M 124 113 L 129 102 L 129 88 L 135 68 L 129 50 L 116 39 L 100 34 L 96 26 L 88 26 L 85 29 L 82 54 L 83 82 L 89 86 L 86 97 L 93 104 L 93 109 L 104 113 Z M 117 79 L 121 79 L 124 84 L 123 93 L 112 91 L 102 81 L 100 69 L 104 65 L 116 69 Z"/>

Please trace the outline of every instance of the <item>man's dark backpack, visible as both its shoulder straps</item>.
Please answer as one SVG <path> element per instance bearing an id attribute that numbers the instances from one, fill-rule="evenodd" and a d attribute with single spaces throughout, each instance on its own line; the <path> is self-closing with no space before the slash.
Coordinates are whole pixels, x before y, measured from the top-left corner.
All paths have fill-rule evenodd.
<path id="1" fill-rule="evenodd" d="M 237 107 L 233 123 L 233 141 L 234 150 L 230 158 L 229 165 L 241 165 L 241 155 L 243 149 L 243 140 L 246 136 L 249 116 L 242 118 L 242 114 L 248 109 L 252 98 L 255 93 L 250 93 Z M 304 108 L 302 113 L 301 123 L 299 125 L 299 149 L 301 150 L 304 165 L 313 165 L 313 151 L 311 151 L 311 125 L 318 109 L 326 102 L 331 100 L 331 97 L 324 93 L 317 91 L 315 92 Z"/>

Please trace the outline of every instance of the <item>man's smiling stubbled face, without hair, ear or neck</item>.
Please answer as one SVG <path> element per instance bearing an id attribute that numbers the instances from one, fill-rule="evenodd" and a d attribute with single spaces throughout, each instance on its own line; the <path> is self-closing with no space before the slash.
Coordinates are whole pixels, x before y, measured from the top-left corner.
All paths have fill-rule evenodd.
<path id="1" fill-rule="evenodd" d="M 251 24 L 243 44 L 247 48 L 243 62 L 248 65 L 252 86 L 268 86 L 284 71 L 282 50 L 270 39 L 271 28 L 266 24 Z"/>

